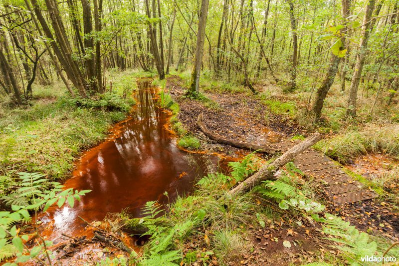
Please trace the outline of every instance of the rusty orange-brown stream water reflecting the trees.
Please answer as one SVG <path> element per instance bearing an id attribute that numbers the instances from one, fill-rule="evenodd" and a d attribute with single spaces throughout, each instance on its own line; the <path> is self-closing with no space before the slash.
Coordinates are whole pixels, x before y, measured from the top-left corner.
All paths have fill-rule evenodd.
<path id="1" fill-rule="evenodd" d="M 158 88 L 151 86 L 151 80 L 140 80 L 138 85 L 134 92 L 137 104 L 129 118 L 82 154 L 64 184 L 65 188 L 92 191 L 75 202 L 74 208 L 53 206 L 39 216 L 43 236 L 55 244 L 61 241 L 61 233 L 90 237 L 79 217 L 92 223 L 126 208 L 132 217 L 140 217 L 146 202 L 168 203 L 189 193 L 198 178 L 218 165 L 216 156 L 180 150 L 168 129 L 170 112 L 157 107 Z"/>

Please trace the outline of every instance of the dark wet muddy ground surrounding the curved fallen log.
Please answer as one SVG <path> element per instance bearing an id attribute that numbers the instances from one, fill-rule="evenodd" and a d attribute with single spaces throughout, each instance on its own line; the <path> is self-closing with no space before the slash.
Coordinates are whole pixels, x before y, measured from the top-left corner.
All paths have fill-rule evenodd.
<path id="1" fill-rule="evenodd" d="M 205 93 L 213 104 L 201 103 L 183 97 L 184 82 L 179 76 L 167 79 L 167 88 L 172 97 L 179 103 L 179 120 L 185 127 L 207 142 L 208 149 L 223 152 L 233 157 L 248 153 L 227 145 L 209 141 L 197 125 L 197 118 L 203 113 L 203 123 L 212 132 L 225 138 L 248 142 L 257 145 L 272 145 L 296 134 L 306 134 L 303 128 L 287 116 L 271 113 L 259 100 L 247 93 Z M 215 104 L 216 103 L 216 104 Z"/>

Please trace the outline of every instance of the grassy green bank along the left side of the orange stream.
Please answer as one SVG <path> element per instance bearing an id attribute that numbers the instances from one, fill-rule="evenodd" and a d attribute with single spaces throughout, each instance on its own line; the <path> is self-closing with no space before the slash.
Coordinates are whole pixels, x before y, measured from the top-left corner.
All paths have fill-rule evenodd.
<path id="1" fill-rule="evenodd" d="M 1 178 L 12 179 L 17 171 L 64 177 L 82 150 L 103 139 L 111 124 L 126 117 L 134 104 L 130 96 L 124 97 L 126 88 L 121 85 L 114 87 L 113 94 L 83 99 L 46 87 L 34 89 L 34 99 L 26 106 L 1 105 Z"/>

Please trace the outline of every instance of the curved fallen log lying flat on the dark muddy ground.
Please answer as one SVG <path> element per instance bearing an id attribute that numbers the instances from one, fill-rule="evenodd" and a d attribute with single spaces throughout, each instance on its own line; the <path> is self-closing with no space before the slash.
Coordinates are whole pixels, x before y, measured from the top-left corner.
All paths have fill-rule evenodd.
<path id="1" fill-rule="evenodd" d="M 261 145 L 256 145 L 256 144 L 239 142 L 239 141 L 235 141 L 235 140 L 228 140 L 220 135 L 212 133 L 209 129 L 207 129 L 207 127 L 202 123 L 202 119 L 203 119 L 203 115 L 202 115 L 202 113 L 200 113 L 200 115 L 198 116 L 198 119 L 197 119 L 197 124 L 200 127 L 201 131 L 203 132 L 203 134 L 205 134 L 205 136 L 207 136 L 208 138 L 210 138 L 218 143 L 230 145 L 230 146 L 240 148 L 240 149 L 249 149 L 249 150 L 253 150 L 253 151 L 257 150 L 257 151 L 264 152 L 264 153 L 274 153 L 274 152 L 278 151 L 278 149 L 275 149 L 275 148 L 272 148 L 269 146 L 261 146 Z"/>

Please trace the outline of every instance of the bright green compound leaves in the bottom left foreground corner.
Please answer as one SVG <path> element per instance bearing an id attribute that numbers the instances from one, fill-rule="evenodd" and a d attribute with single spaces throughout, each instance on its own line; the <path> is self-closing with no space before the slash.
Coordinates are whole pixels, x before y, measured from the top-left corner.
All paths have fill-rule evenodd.
<path id="1" fill-rule="evenodd" d="M 63 186 L 57 182 L 47 182 L 44 175 L 40 173 L 18 173 L 20 176 L 19 198 L 25 198 L 24 204 L 11 205 L 11 211 L 0 212 L 0 258 L 6 259 L 15 257 L 13 263 L 6 263 L 5 265 L 17 265 L 18 263 L 25 263 L 31 259 L 35 259 L 47 253 L 51 256 L 51 252 L 44 248 L 52 245 L 50 241 L 39 243 L 33 247 L 27 247 L 23 244 L 29 238 L 29 235 L 36 234 L 19 234 L 20 229 L 17 228 L 20 223 L 30 220 L 30 213 L 43 208 L 45 212 L 51 205 L 57 203 L 57 206 L 62 207 L 65 202 L 73 208 L 75 200 L 80 201 L 80 196 L 84 196 L 89 190 L 73 191 L 72 188 L 62 190 Z M 21 201 L 21 200 L 19 200 Z M 8 203 L 10 203 L 8 201 Z M 37 223 L 37 219 L 35 219 Z M 15 225 L 18 223 L 17 225 Z"/>

